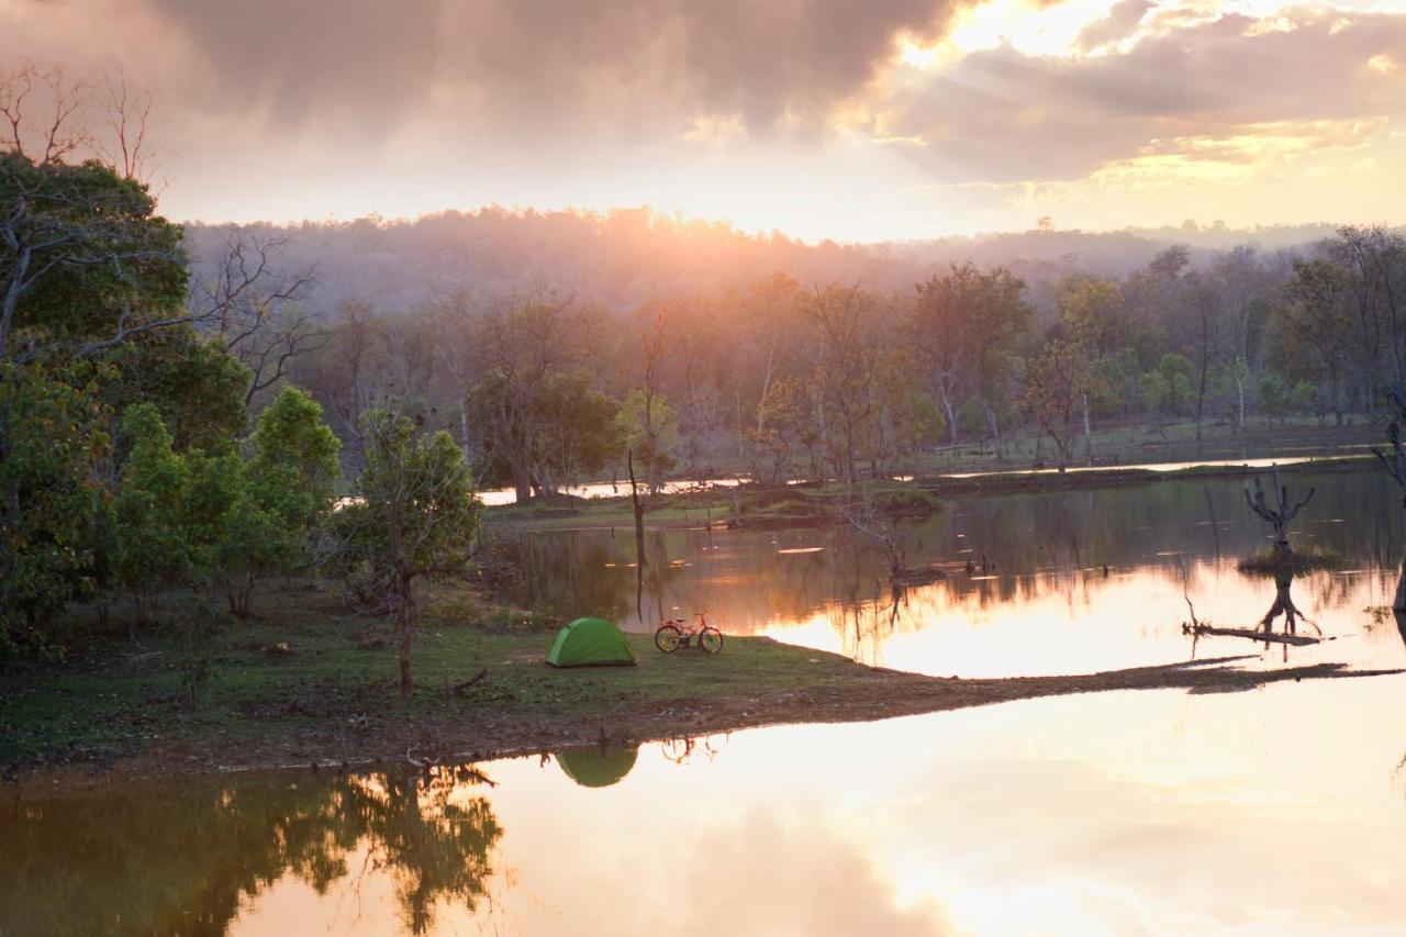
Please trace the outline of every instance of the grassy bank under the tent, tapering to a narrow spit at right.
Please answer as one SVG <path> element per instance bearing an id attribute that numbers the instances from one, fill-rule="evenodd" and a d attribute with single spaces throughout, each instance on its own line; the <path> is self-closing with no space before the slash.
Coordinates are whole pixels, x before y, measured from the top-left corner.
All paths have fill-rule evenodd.
<path id="1" fill-rule="evenodd" d="M 588 741 L 664 739 L 778 722 L 876 719 L 1052 694 L 1241 688 L 1341 677 L 1336 665 L 1247 673 L 1229 661 L 1090 675 L 956 680 L 869 668 L 765 637 L 723 653 L 654 650 L 637 667 L 543 663 L 554 622 L 441 587 L 429 597 L 404 703 L 384 626 L 326 584 L 267 585 L 259 618 L 191 601 L 135 640 L 107 633 L 84 660 L 0 670 L 0 771 L 134 775 L 371 760 L 486 757 Z M 86 626 L 90 611 L 72 627 Z M 200 626 L 204 639 L 191 637 Z M 456 688 L 478 677 L 467 687 Z M 77 774 L 73 774 L 77 771 Z"/>

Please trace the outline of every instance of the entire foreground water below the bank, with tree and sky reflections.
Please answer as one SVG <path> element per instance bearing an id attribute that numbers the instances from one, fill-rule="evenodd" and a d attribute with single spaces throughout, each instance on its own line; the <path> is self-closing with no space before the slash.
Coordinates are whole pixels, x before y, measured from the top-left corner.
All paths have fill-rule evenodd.
<path id="1" fill-rule="evenodd" d="M 748 730 L 605 786 L 576 751 L 27 792 L 0 933 L 1395 933 L 1403 684 Z"/>

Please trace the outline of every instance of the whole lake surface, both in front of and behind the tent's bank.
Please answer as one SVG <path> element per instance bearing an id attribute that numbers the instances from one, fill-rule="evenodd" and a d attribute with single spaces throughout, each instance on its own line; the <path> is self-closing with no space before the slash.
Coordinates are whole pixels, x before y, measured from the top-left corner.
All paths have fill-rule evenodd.
<path id="1" fill-rule="evenodd" d="M 1308 647 L 1181 630 L 1188 597 L 1241 627 L 1274 602 L 1234 566 L 1267 544 L 1237 480 L 955 501 L 900 529 L 952 574 L 897 599 L 868 543 L 815 529 L 651 532 L 640 608 L 627 529 L 533 537 L 527 578 L 568 616 L 707 609 L 941 675 L 1406 665 L 1367 611 L 1395 589 L 1399 495 L 1285 481 L 1317 488 L 1299 546 L 1344 557 L 1291 585 Z M 1399 933 L 1403 698 L 1402 675 L 1115 692 L 427 775 L 7 789 L 0 934 Z"/>

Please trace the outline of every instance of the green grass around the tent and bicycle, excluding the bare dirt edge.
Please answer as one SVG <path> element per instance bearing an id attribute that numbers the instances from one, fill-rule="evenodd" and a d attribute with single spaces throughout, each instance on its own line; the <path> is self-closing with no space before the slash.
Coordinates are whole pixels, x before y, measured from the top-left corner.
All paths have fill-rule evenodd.
<path id="1" fill-rule="evenodd" d="M 260 761 L 249 756 L 266 751 L 274 760 L 350 757 L 367 739 L 413 741 L 420 730 L 465 719 L 485 732 L 558 718 L 579 723 L 621 706 L 786 691 L 858 670 L 761 637 L 730 636 L 717 656 L 664 656 L 648 635 L 628 636 L 637 667 L 555 670 L 544 657 L 560 622 L 440 585 L 425 601 L 412 654 L 416 689 L 404 703 L 384 622 L 354 615 L 330 584 L 267 584 L 256 597 L 257 618 L 247 620 L 191 599 L 169 605 L 135 642 L 93 633 L 84 625 L 91 609 L 82 609 L 67 629 L 90 643 L 80 660 L 0 670 L 0 765 L 110 763 L 152 751 L 221 764 Z M 201 642 L 190 637 L 193 618 L 209 632 Z M 450 691 L 484 668 L 472 687 Z"/>

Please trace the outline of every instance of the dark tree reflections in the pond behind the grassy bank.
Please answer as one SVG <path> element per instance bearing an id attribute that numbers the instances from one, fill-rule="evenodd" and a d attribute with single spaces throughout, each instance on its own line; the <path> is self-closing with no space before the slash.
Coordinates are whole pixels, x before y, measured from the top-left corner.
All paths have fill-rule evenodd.
<path id="1" fill-rule="evenodd" d="M 1202 560 L 1263 547 L 1263 525 L 1246 508 L 1241 484 L 1239 478 L 1163 481 L 959 498 L 932 518 L 897 523 L 896 533 L 910 564 L 952 564 L 953 575 L 936 587 L 952 602 L 974 601 L 984 608 L 1062 588 L 1069 606 L 1078 608 L 1097 599 L 1105 564 L 1116 574 L 1135 566 L 1166 566 L 1167 556 L 1182 556 L 1202 568 Z M 1395 497 L 1388 478 L 1372 473 L 1303 474 L 1295 476 L 1294 484 L 1319 490 L 1299 518 L 1296 536 L 1369 564 L 1398 549 L 1393 529 L 1382 523 L 1382 498 Z M 658 559 L 651 563 L 657 575 L 645 584 L 647 618 L 673 605 L 683 611 L 709 608 L 724 629 L 747 632 L 775 619 L 830 613 L 837 602 L 851 608 L 890 604 L 886 557 L 869 549 L 872 544 L 858 543 L 852 530 L 655 530 L 650 536 L 651 559 Z M 551 602 L 567 616 L 633 616 L 634 571 L 627 564 L 634 560 L 634 543 L 628 529 L 617 529 L 613 537 L 609 530 L 592 530 L 538 535 L 531 542 L 538 601 Z M 779 553 L 815 546 L 824 552 Z M 960 573 L 966 559 L 980 567 L 983 556 L 995 566 L 995 580 Z M 689 566 L 671 566 L 672 557 Z M 1219 566 L 1209 568 L 1220 573 Z M 1177 581 L 1174 568 L 1163 575 Z M 1324 601 L 1346 601 L 1348 584 L 1315 578 L 1312 588 L 1320 587 L 1331 592 Z M 901 612 L 896 626 L 903 627 L 910 618 Z M 845 630 L 852 633 L 852 613 L 849 619 Z"/>

